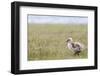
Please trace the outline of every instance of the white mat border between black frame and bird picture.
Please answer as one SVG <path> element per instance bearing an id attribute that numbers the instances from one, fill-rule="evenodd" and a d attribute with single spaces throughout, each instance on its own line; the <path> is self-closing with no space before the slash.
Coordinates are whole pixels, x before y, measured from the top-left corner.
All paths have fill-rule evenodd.
<path id="1" fill-rule="evenodd" d="M 88 17 L 88 59 L 27 61 L 27 14 L 87 16 Z M 79 67 L 94 65 L 94 11 L 55 9 L 42 7 L 20 7 L 20 70 Z"/>

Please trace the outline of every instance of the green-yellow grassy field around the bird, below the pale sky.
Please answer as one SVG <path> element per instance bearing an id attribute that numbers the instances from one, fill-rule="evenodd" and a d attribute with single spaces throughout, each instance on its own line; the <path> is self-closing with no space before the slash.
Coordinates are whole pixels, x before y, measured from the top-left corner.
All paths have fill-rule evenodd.
<path id="1" fill-rule="evenodd" d="M 87 25 L 29 24 L 28 60 L 55 60 L 87 58 L 87 48 L 80 56 L 74 56 L 66 47 L 66 39 L 72 37 L 87 47 Z"/>

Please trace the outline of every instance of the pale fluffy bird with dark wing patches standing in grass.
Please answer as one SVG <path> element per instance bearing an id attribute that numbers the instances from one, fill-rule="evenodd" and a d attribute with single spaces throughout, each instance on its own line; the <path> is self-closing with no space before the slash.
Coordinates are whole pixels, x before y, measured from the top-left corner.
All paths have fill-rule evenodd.
<path id="1" fill-rule="evenodd" d="M 67 47 L 69 50 L 71 50 L 74 55 L 80 55 L 80 53 L 83 51 L 84 45 L 80 42 L 74 42 L 72 38 L 68 38 L 66 40 Z"/>

